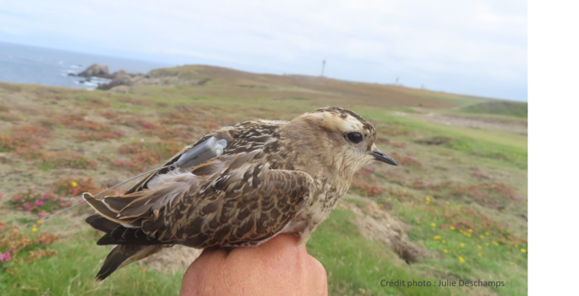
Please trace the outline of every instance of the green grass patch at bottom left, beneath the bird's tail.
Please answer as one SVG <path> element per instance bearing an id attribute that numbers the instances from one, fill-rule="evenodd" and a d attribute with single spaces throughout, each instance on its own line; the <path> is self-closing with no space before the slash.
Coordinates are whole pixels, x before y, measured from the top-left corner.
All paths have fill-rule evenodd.
<path id="1" fill-rule="evenodd" d="M 82 231 L 73 237 L 50 245 L 58 256 L 30 264 L 18 264 L 18 273 L 0 275 L 1 295 L 177 295 L 182 274 L 167 276 L 155 271 L 143 272 L 131 264 L 98 284 L 94 276 L 107 247 L 97 247 L 95 231 Z M 88 251 L 90 250 L 90 251 Z"/>

